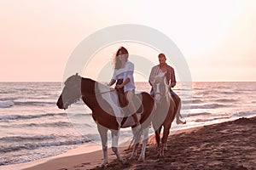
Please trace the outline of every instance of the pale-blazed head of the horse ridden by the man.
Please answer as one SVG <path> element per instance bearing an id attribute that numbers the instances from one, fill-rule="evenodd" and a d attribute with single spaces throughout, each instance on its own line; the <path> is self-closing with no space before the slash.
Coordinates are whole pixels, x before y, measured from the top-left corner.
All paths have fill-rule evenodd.
<path id="1" fill-rule="evenodd" d="M 153 88 L 154 100 L 156 101 L 156 103 L 160 103 L 162 99 L 166 99 L 166 97 L 168 97 L 169 87 L 168 84 L 166 83 L 165 76 L 154 77 Z"/>

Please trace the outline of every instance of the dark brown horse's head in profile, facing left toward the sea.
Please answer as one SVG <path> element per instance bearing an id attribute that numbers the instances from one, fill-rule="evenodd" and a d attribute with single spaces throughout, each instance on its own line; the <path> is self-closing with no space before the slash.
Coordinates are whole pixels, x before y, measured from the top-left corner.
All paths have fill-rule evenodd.
<path id="1" fill-rule="evenodd" d="M 80 97 L 81 77 L 77 73 L 76 75 L 68 77 L 67 81 L 64 82 L 64 88 L 56 105 L 59 107 L 59 109 L 66 110 L 69 105 L 72 105 L 78 101 Z"/>

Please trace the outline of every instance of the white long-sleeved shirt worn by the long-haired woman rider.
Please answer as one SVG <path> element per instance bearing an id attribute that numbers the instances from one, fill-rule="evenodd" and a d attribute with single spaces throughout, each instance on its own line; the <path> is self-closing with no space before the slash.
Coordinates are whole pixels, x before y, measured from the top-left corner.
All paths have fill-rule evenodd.
<path id="1" fill-rule="evenodd" d="M 128 82 L 124 86 L 124 91 L 127 92 L 127 91 L 135 89 L 133 72 L 134 72 L 133 63 L 131 63 L 131 61 L 127 61 L 125 63 L 125 68 L 114 69 L 112 79 L 113 80 L 123 79 L 123 81 L 125 82 L 125 80 L 127 78 L 129 78 L 130 82 Z"/>

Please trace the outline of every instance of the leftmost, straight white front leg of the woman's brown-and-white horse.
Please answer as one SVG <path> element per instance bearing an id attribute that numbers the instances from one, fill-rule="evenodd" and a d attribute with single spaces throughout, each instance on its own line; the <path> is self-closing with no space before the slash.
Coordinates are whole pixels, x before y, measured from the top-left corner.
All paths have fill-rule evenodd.
<path id="1" fill-rule="evenodd" d="M 108 163 L 108 128 L 102 127 L 100 124 L 97 124 L 97 128 L 101 135 L 103 150 L 103 161 L 100 167 L 105 167 Z"/>

